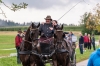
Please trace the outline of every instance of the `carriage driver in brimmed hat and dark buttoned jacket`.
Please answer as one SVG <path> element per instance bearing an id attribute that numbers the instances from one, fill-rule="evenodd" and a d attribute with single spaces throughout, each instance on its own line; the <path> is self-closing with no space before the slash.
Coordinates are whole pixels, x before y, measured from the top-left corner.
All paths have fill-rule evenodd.
<path id="1" fill-rule="evenodd" d="M 53 29 L 53 25 L 51 23 L 52 18 L 51 16 L 47 16 L 45 19 L 45 23 L 41 24 L 39 27 L 39 32 L 40 32 L 40 41 L 44 41 L 46 39 L 52 38 L 53 37 L 53 33 L 54 33 L 54 29 Z M 47 42 L 48 43 L 48 42 Z"/>

